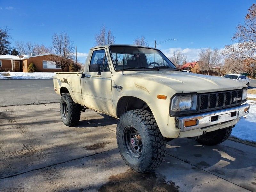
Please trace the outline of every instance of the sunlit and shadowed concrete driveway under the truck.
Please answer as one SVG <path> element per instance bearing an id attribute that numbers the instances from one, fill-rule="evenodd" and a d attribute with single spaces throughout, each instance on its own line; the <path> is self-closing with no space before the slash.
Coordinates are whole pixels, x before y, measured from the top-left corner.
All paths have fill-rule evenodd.
<path id="1" fill-rule="evenodd" d="M 159 168 L 139 174 L 119 155 L 116 123 L 86 110 L 66 127 L 56 103 L 1 107 L 0 191 L 256 191 L 252 146 L 176 139 Z"/>

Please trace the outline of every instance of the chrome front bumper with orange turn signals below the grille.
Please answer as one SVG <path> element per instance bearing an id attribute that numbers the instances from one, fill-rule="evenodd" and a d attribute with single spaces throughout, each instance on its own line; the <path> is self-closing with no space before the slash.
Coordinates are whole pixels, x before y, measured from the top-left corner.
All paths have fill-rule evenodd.
<path id="1" fill-rule="evenodd" d="M 176 127 L 179 128 L 181 132 L 198 128 L 206 128 L 215 124 L 225 123 L 245 116 L 249 113 L 249 109 L 250 105 L 248 103 L 245 103 L 236 107 L 206 112 L 200 115 L 177 117 L 175 118 Z M 197 124 L 185 127 L 185 122 L 190 120 L 196 120 Z"/>

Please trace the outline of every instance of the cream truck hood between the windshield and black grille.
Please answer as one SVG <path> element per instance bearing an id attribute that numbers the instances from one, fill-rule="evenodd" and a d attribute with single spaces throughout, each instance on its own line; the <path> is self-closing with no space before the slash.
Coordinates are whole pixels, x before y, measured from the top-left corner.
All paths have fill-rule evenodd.
<path id="1" fill-rule="evenodd" d="M 164 84 L 180 93 L 216 92 L 246 87 L 245 84 L 233 79 L 180 71 L 136 71 L 130 75 Z"/>

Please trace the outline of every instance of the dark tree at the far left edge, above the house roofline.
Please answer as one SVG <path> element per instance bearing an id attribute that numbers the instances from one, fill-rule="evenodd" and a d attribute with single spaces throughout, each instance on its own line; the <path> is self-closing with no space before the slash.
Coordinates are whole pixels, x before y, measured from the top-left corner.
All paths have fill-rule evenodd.
<path id="1" fill-rule="evenodd" d="M 0 28 L 0 54 L 6 55 L 10 52 L 9 45 L 11 44 L 9 39 L 11 36 L 9 35 L 9 29 L 7 27 Z"/>

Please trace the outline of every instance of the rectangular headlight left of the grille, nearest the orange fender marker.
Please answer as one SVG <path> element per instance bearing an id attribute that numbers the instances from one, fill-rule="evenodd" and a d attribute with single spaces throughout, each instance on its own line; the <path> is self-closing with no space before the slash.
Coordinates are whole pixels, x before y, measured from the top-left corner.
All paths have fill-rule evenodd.
<path id="1" fill-rule="evenodd" d="M 196 94 L 174 96 L 171 111 L 196 110 L 196 98 Z"/>

